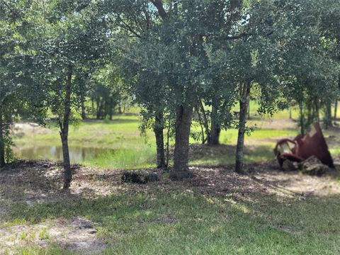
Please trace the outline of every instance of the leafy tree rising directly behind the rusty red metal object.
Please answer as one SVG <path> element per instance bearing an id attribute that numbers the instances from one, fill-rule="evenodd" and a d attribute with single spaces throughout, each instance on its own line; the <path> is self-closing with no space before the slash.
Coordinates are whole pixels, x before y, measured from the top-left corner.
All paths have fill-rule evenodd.
<path id="1" fill-rule="evenodd" d="M 313 1 L 291 4 L 293 11 L 286 23 L 290 31 L 283 40 L 283 80 L 285 96 L 297 102 L 300 108 L 300 129 L 304 135 L 307 128 L 319 122 L 320 111 L 325 110 L 324 126 L 331 125 L 331 103 L 339 93 L 334 61 L 334 35 L 329 36 L 324 20 L 334 10 L 332 1 Z M 330 6 L 332 6 L 330 8 Z M 339 7 L 338 7 L 339 8 Z"/>

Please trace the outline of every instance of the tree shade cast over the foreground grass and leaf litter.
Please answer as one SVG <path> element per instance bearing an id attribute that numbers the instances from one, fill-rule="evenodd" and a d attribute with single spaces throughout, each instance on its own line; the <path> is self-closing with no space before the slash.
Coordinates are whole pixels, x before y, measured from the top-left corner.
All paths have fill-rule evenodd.
<path id="1" fill-rule="evenodd" d="M 336 220 L 340 218 L 339 194 L 314 198 L 273 192 L 272 188 L 280 191 L 288 180 L 282 178 L 285 173 L 269 171 L 268 164 L 249 167 L 261 174 L 281 174 L 278 179 L 259 181 L 254 176 L 237 175 L 228 166 L 197 167 L 192 169 L 195 174 L 192 179 L 171 182 L 164 178 L 150 185 L 120 186 L 119 174 L 95 171 L 91 179 L 96 179 L 96 183 L 87 185 L 84 181 L 89 174 L 80 171 L 74 186 L 86 184 L 86 188 L 78 195 L 74 189 L 61 191 L 55 185 L 44 184 L 60 178 L 49 175 L 54 167 L 18 165 L 0 174 L 4 174 L 0 187 L 5 184 L 22 187 L 21 196 L 35 192 L 39 196 L 45 190 L 55 195 L 33 204 L 17 199 L 11 204 L 7 222 L 35 225 L 47 219 L 86 217 L 100 223 L 98 236 L 108 244 L 103 254 L 275 254 L 278 250 L 282 254 L 336 254 L 339 251 L 336 245 L 340 237 L 340 221 Z M 290 177 L 293 181 L 296 174 Z M 118 190 L 98 197 L 98 183 L 104 187 L 117 186 Z"/>

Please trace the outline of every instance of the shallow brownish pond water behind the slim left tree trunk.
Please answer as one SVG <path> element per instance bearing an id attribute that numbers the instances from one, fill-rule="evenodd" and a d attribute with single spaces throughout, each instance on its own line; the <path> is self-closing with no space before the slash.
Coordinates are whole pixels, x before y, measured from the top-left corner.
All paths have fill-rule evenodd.
<path id="1" fill-rule="evenodd" d="M 51 159 L 62 161 L 61 146 L 43 146 L 14 149 L 16 156 L 19 159 Z M 102 149 L 96 147 L 69 147 L 69 159 L 71 163 L 86 162 L 91 159 L 96 159 L 103 154 L 113 154 L 113 149 Z"/>

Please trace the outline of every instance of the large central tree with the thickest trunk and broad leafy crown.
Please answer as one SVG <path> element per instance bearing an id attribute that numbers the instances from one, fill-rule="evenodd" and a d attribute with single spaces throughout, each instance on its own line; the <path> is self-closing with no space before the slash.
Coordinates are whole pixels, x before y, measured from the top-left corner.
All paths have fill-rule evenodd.
<path id="1" fill-rule="evenodd" d="M 162 103 L 167 100 L 166 111 L 176 115 L 172 179 L 189 176 L 188 144 L 193 108 L 202 100 L 204 91 L 207 91 L 207 84 L 202 79 L 208 62 L 205 45 L 220 29 L 217 22 L 229 23 L 232 28 L 239 21 L 234 18 L 233 10 L 240 3 L 241 1 L 137 1 L 129 3 L 132 7 L 128 9 L 122 8 L 128 4 L 119 5 L 120 12 L 115 15 L 115 20 L 123 23 L 121 26 L 133 37 L 125 39 L 124 45 L 128 47 L 120 45 L 120 52 L 125 59 L 130 60 L 130 66 L 138 70 L 135 77 L 145 77 L 140 75 L 145 72 L 162 81 L 162 84 L 156 86 L 165 93 L 158 100 Z M 117 9 L 118 6 L 115 10 Z M 140 19 L 132 18 L 136 16 Z M 134 22 L 136 20 L 142 20 L 139 23 L 142 25 L 137 26 Z M 226 40 L 233 38 L 227 36 Z M 143 103 L 152 101 L 144 96 L 141 98 Z M 154 113 L 164 111 L 159 105 L 155 111 L 154 106 Z"/>

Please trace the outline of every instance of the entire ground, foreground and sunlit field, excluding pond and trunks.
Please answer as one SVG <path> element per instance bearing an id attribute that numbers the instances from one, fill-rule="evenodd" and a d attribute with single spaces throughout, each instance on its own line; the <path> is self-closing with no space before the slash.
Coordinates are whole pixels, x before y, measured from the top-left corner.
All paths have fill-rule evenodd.
<path id="1" fill-rule="evenodd" d="M 235 174 L 237 130 L 222 145 L 191 140 L 193 177 L 170 181 L 153 169 L 154 137 L 136 115 L 87 120 L 72 128 L 71 147 L 113 149 L 74 168 L 69 191 L 62 166 L 19 162 L 0 174 L 0 250 L 4 254 L 339 254 L 338 171 L 326 176 L 283 172 L 273 146 L 297 135 L 287 113 L 254 115 L 246 137 L 248 174 Z M 340 156 L 337 129 L 325 137 Z M 16 146 L 59 145 L 58 130 L 21 126 Z M 337 160 L 337 159 L 336 159 Z M 141 169 L 142 168 L 142 169 Z M 123 169 L 156 171 L 160 181 L 122 183 Z M 132 170 L 129 170 L 132 171 Z M 80 222 L 80 223 L 79 223 Z M 80 226 L 80 227 L 79 227 Z"/>

